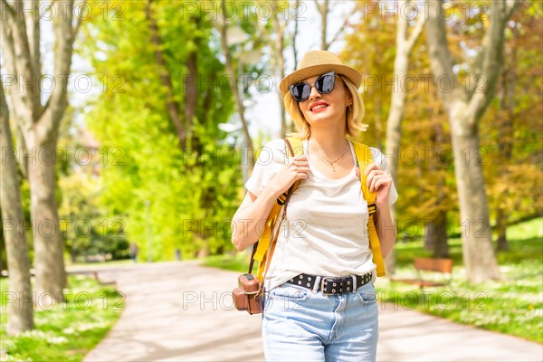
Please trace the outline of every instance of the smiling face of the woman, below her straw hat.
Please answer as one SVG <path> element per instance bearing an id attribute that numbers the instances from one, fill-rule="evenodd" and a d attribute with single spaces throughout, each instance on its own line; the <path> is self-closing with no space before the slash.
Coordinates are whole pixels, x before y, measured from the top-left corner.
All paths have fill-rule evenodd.
<path id="1" fill-rule="evenodd" d="M 336 76 L 334 90 L 320 94 L 315 89 L 315 81 L 319 76 L 307 78 L 305 82 L 311 85 L 310 98 L 298 103 L 300 110 L 310 126 L 326 126 L 332 122 L 345 126 L 346 109 L 350 100 L 350 93 L 345 83 Z"/>

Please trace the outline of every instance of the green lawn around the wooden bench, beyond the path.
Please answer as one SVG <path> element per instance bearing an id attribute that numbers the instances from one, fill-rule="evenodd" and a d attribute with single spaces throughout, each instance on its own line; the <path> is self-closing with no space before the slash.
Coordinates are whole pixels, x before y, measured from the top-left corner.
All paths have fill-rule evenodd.
<path id="1" fill-rule="evenodd" d="M 420 310 L 453 321 L 543 343 L 543 218 L 510 226 L 510 250 L 497 254 L 502 281 L 470 284 L 462 261 L 460 239 L 449 240 L 454 262 L 451 285 L 427 288 L 376 282 L 378 298 L 386 308 Z M 422 241 L 396 243 L 396 276 L 414 277 L 415 257 L 431 257 Z M 247 253 L 214 256 L 206 265 L 247 271 Z"/>

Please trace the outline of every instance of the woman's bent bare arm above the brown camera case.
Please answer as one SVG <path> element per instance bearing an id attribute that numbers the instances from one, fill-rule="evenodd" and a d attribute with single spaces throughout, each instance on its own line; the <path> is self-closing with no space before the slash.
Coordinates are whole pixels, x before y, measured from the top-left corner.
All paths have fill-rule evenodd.
<path id="1" fill-rule="evenodd" d="M 310 166 L 305 155 L 291 157 L 288 165 L 281 167 L 258 196 L 247 192 L 242 205 L 232 218 L 232 243 L 237 250 L 242 251 L 260 239 L 264 230 L 263 223 L 277 197 L 287 191 L 296 180 L 306 179 L 309 171 Z"/>

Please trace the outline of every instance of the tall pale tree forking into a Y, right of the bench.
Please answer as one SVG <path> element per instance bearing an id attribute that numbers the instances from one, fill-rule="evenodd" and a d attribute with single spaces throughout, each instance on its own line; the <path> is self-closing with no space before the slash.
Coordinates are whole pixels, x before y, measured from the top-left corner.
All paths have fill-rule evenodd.
<path id="1" fill-rule="evenodd" d="M 480 162 L 479 122 L 487 109 L 500 73 L 504 29 L 519 2 L 492 1 L 489 27 L 472 66 L 472 87 L 463 90 L 452 67 L 445 30 L 443 0 L 429 3 L 427 43 L 434 79 L 452 81 L 452 90 L 440 90 L 452 132 L 454 167 L 462 220 L 462 251 L 472 282 L 500 279 L 491 241 L 489 205 Z M 481 91 L 482 87 L 485 88 Z"/>

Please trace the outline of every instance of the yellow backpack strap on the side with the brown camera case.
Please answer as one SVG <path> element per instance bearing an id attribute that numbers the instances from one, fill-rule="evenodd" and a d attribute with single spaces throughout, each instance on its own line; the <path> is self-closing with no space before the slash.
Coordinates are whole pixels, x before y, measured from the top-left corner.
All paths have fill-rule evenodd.
<path id="1" fill-rule="evenodd" d="M 288 148 L 286 143 L 285 143 L 285 155 L 288 155 L 289 157 L 303 155 L 303 146 L 301 143 L 301 139 L 295 138 L 295 137 L 289 137 L 287 139 L 289 139 L 289 142 L 291 142 L 291 147 L 292 147 L 292 150 L 294 151 L 294 155 L 291 155 L 291 150 Z M 296 183 L 295 188 L 299 184 L 300 183 Z M 281 205 L 278 202 L 275 202 L 275 204 L 273 204 L 273 207 L 271 207 L 271 212 L 268 215 L 268 218 L 266 219 L 266 224 L 264 224 L 264 230 L 262 231 L 262 236 L 260 240 L 258 241 L 258 247 L 256 248 L 256 252 L 254 252 L 253 259 L 259 262 L 258 271 L 256 275 L 259 281 L 261 282 L 264 279 L 263 274 L 264 274 L 264 270 L 266 269 L 266 264 L 268 262 L 266 255 L 267 255 L 268 249 L 270 248 L 271 232 L 275 228 L 275 224 L 277 223 L 277 218 L 281 212 L 281 208 L 284 204 L 285 197 L 281 195 L 278 197 L 278 200 L 281 201 Z"/>

